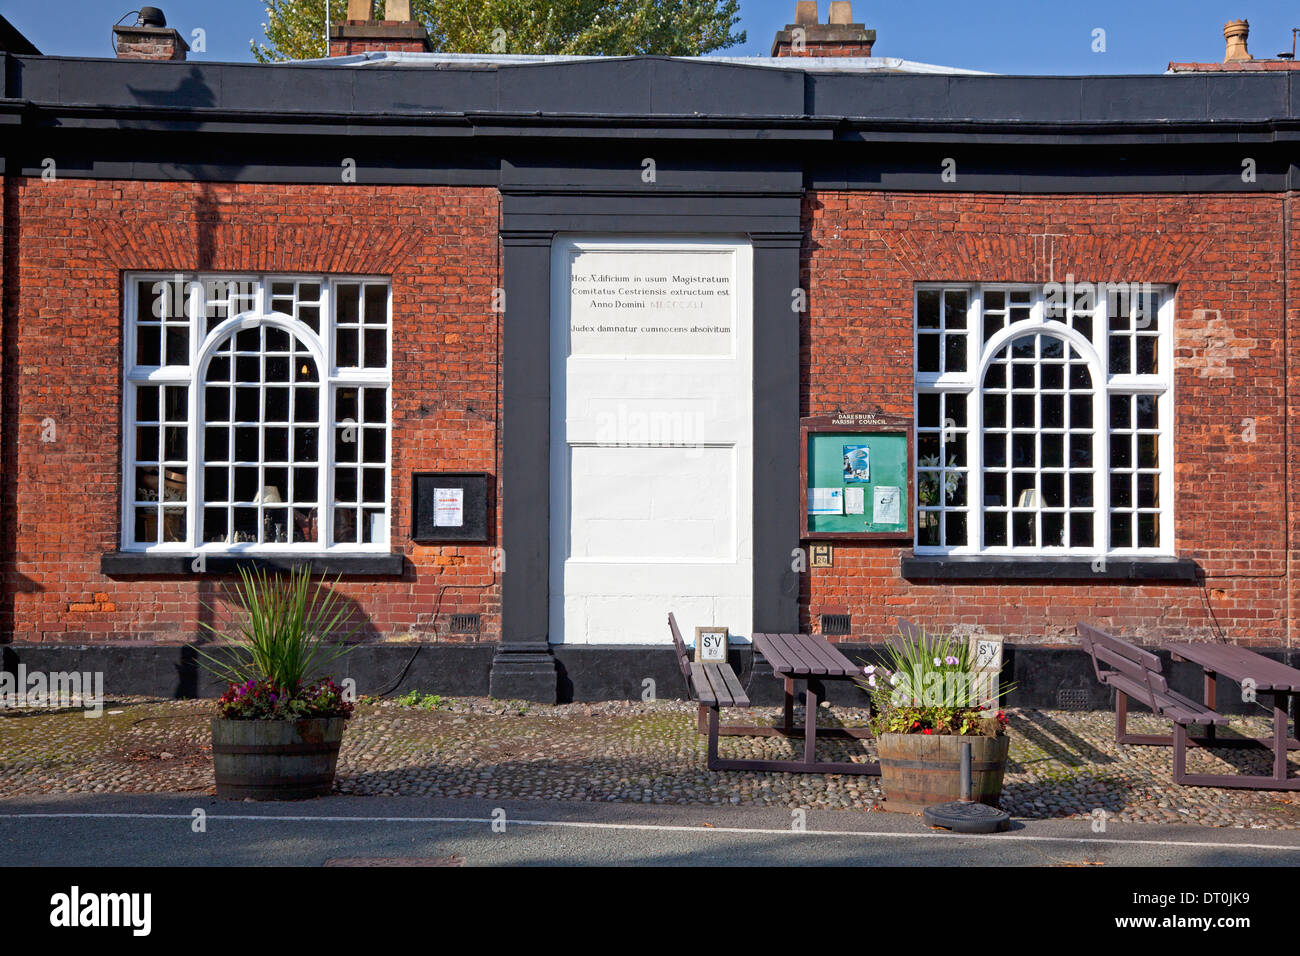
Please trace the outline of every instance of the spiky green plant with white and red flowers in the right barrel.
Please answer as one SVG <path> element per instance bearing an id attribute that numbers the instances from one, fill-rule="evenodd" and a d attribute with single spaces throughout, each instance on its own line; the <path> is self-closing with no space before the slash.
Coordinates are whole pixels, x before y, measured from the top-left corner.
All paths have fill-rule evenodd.
<path id="1" fill-rule="evenodd" d="M 1010 721 L 996 706 L 1011 685 L 991 693 L 985 672 L 970 665 L 965 641 L 907 635 L 889 644 L 885 665 L 867 665 L 858 684 L 871 698 L 872 734 L 1002 736 Z"/>

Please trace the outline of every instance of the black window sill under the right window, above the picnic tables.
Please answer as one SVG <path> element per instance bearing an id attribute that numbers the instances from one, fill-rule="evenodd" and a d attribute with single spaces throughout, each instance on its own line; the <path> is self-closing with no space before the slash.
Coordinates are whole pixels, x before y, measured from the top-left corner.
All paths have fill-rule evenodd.
<path id="1" fill-rule="evenodd" d="M 1091 558 L 1034 558 L 982 554 L 913 554 L 902 559 L 907 580 L 1109 580 L 1195 581 L 1200 568 L 1191 558 L 1106 558 L 1093 570 Z"/>

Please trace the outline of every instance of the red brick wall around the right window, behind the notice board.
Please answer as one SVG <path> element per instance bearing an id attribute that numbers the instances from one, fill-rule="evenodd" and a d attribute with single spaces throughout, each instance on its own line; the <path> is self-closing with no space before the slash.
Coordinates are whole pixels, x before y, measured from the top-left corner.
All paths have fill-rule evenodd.
<path id="1" fill-rule="evenodd" d="M 910 546 L 840 544 L 835 567 L 807 575 L 805 626 L 829 610 L 853 614 L 852 640 L 880 639 L 902 615 L 1022 643 L 1072 643 L 1080 619 L 1144 641 L 1290 643 L 1282 196 L 824 191 L 806 196 L 803 219 L 805 415 L 911 415 L 915 282 L 1043 282 L 1052 259 L 1058 281 L 1175 284 L 1175 548 L 1205 570 L 1204 587 L 909 583 Z M 1048 233 L 1058 238 L 1034 238 Z"/>

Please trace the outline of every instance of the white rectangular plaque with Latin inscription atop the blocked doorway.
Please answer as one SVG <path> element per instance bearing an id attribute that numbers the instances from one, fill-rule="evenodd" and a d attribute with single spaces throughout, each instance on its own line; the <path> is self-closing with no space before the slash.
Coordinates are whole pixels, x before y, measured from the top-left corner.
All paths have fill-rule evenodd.
<path id="1" fill-rule="evenodd" d="M 575 250 L 571 355 L 729 355 L 734 349 L 729 250 Z"/>

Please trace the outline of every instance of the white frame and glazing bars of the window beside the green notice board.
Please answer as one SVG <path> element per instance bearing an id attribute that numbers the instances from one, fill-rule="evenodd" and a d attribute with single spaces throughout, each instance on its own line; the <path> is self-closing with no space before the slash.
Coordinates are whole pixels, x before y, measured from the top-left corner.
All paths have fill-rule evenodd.
<path id="1" fill-rule="evenodd" d="M 1100 284 L 1098 284 L 1100 285 Z M 1128 285 L 1128 284 L 1124 284 Z M 1069 286 L 1066 286 L 1069 289 Z M 1046 294 L 1041 284 L 1032 285 L 1024 282 L 987 282 L 987 284 L 970 284 L 970 282 L 919 282 L 915 285 L 913 291 L 913 415 L 914 415 L 914 431 L 919 445 L 920 434 L 920 395 L 927 393 L 939 394 L 965 394 L 966 398 L 966 514 L 967 514 L 967 542 L 965 545 L 922 545 L 920 544 L 920 522 L 916 520 L 916 532 L 914 537 L 914 550 L 916 554 L 980 554 L 980 555 L 1005 555 L 1005 557 L 1091 557 L 1091 558 L 1105 558 L 1105 557 L 1169 557 L 1174 554 L 1174 316 L 1175 316 L 1175 302 L 1176 294 L 1174 286 L 1170 285 L 1156 285 L 1150 284 L 1148 286 L 1153 291 L 1160 294 L 1160 307 L 1156 316 L 1158 338 L 1156 345 L 1156 368 L 1154 375 L 1138 375 L 1134 372 L 1124 375 L 1110 375 L 1110 333 L 1109 321 L 1106 316 L 1106 297 L 1095 297 L 1095 304 L 1091 312 L 1088 310 L 1079 310 L 1078 312 L 1067 313 L 1067 321 L 1060 321 L 1056 319 L 1046 317 Z M 967 316 L 966 316 L 966 371 L 965 372 L 920 372 L 918 371 L 919 362 L 919 337 L 920 330 L 918 328 L 919 320 L 919 298 L 922 291 L 944 290 L 944 289 L 961 289 L 967 293 Z M 1026 320 L 1018 323 L 1010 323 L 1010 315 L 1008 315 L 1008 324 L 993 334 L 988 343 L 983 342 L 983 317 L 984 317 L 984 297 L 989 291 L 1030 291 L 1031 293 L 1031 313 Z M 1072 306 L 1071 306 L 1072 308 Z M 1134 306 L 1130 306 L 1132 310 Z M 1092 319 L 1092 337 L 1087 338 L 1072 326 L 1069 321 L 1071 315 L 1091 315 Z M 1092 496 L 1092 511 L 1093 511 L 1093 538 L 1091 546 L 1015 546 L 1013 542 L 1011 533 L 1008 535 L 1008 544 L 998 546 L 985 546 L 984 545 L 984 402 L 983 402 L 983 381 L 988 365 L 996 358 L 996 355 L 1010 343 L 1024 334 L 1034 334 L 1037 332 L 1057 336 L 1066 341 L 1067 346 L 1072 346 L 1080 355 L 1087 359 L 1089 372 L 1092 375 L 1092 473 L 1093 473 L 1093 496 Z M 948 333 L 950 334 L 950 333 Z M 1134 334 L 1134 333 L 1130 333 Z M 942 350 L 942 341 L 940 341 L 940 349 Z M 1010 382 L 1009 382 L 1010 385 Z M 1040 394 L 1035 390 L 1034 394 Z M 1156 512 L 1160 515 L 1160 532 L 1158 541 L 1154 548 L 1112 548 L 1110 546 L 1110 419 L 1109 419 L 1109 406 L 1110 397 L 1118 394 L 1144 394 L 1156 397 L 1156 414 L 1160 425 L 1160 434 L 1157 440 L 1157 455 L 1158 455 L 1158 509 Z M 944 423 L 940 423 L 941 427 Z M 1010 427 L 1010 423 L 1009 423 Z M 1134 423 L 1132 429 L 1136 429 L 1136 423 Z M 1069 433 L 1066 433 L 1066 441 L 1069 444 Z M 914 486 L 919 488 L 920 483 L 920 466 L 919 466 L 919 451 L 916 454 L 916 464 L 914 466 Z M 1041 467 L 1041 466 L 1040 466 Z M 1010 466 L 1008 467 L 1010 471 Z M 1131 468 L 1124 471 L 1136 471 L 1136 463 Z M 1069 471 L 1069 467 L 1067 467 Z M 940 472 L 942 475 L 942 472 Z M 940 484 L 940 501 L 942 502 L 944 488 L 942 480 Z M 919 501 L 914 502 L 913 509 L 918 510 L 920 507 Z M 961 510 L 962 506 L 956 506 L 953 510 Z M 1014 507 L 1010 502 L 1008 507 Z M 1041 499 L 1037 503 L 1041 510 Z M 1066 505 L 1066 511 L 1070 511 L 1069 503 Z M 1130 510 L 1130 509 L 1124 509 Z M 1136 502 L 1131 507 L 1132 512 L 1139 511 Z M 1134 533 L 1134 540 L 1136 541 L 1136 532 Z"/>

